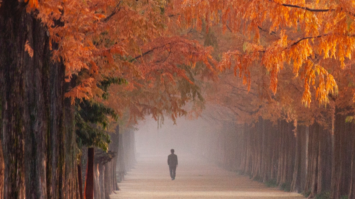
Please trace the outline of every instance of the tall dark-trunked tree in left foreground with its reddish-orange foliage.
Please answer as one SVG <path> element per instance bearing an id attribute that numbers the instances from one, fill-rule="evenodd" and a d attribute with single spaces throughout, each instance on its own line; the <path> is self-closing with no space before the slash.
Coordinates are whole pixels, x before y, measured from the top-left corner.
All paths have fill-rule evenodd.
<path id="1" fill-rule="evenodd" d="M 76 98 L 101 102 L 104 91 L 99 82 L 107 77 L 128 80 L 124 88 L 127 96 L 139 83 L 151 90 L 154 86 L 150 84 L 160 87 L 158 82 L 164 79 L 171 89 L 186 82 L 193 85 L 188 74 L 194 63 L 201 61 L 209 66 L 213 62 L 211 49 L 173 37 L 176 29 L 169 23 L 170 3 L 1 1 L 5 198 L 74 197 L 76 189 L 70 186 L 77 183 L 73 177 L 77 175 L 72 175 L 76 172 L 75 108 L 65 97 L 71 97 L 72 103 Z M 155 76 L 150 76 L 153 73 Z M 183 88 L 189 87 L 193 88 Z M 173 117 L 182 113 L 181 107 L 190 99 L 186 93 L 196 92 L 181 93 L 181 98 L 151 95 L 151 101 L 160 96 L 168 99 L 155 112 L 167 110 Z M 144 98 L 140 95 L 135 99 L 138 102 Z M 133 110 L 129 105 L 115 110 Z"/>

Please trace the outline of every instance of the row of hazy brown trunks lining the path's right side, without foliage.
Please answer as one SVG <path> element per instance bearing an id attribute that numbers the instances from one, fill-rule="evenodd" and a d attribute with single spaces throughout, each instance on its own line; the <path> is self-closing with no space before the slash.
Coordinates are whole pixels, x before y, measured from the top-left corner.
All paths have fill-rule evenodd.
<path id="1" fill-rule="evenodd" d="M 268 186 L 309 198 L 355 198 L 355 124 L 345 118 L 336 116 L 334 133 L 318 123 L 224 122 L 220 132 L 196 131 L 188 144 L 193 153 Z"/>

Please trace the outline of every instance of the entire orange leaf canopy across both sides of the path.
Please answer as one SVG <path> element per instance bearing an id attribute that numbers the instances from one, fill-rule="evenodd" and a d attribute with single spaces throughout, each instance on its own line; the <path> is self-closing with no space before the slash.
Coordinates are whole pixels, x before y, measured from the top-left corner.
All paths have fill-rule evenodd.
<path id="1" fill-rule="evenodd" d="M 235 100 L 250 102 L 250 107 L 236 109 L 253 117 L 308 118 L 298 101 L 320 113 L 313 99 L 332 104 L 337 95 L 340 99 L 346 91 L 349 99 L 355 90 L 345 86 L 352 84 L 349 78 L 343 79 L 352 74 L 355 45 L 355 5 L 349 1 L 28 0 L 28 5 L 48 27 L 56 44 L 53 59 L 64 62 L 67 80 L 78 76 L 77 86 L 66 96 L 100 101 L 100 80 L 125 79 L 128 84 L 111 89 L 105 103 L 121 114 L 130 109 L 134 120 L 145 113 L 157 116 L 167 106 L 173 107 L 172 117 L 184 113 L 181 107 L 194 96 L 181 97 L 178 91 L 193 87 L 189 73 L 213 79 L 214 66 L 233 68 L 241 78 L 233 83 L 228 75 L 222 79 L 229 89 L 255 94 Z M 228 47 L 221 46 L 217 64 L 212 49 L 181 36 L 181 27 L 205 28 L 206 33 L 218 27 L 238 39 L 224 41 Z M 29 46 L 25 49 L 31 53 Z M 219 91 L 231 92 L 228 87 Z"/>

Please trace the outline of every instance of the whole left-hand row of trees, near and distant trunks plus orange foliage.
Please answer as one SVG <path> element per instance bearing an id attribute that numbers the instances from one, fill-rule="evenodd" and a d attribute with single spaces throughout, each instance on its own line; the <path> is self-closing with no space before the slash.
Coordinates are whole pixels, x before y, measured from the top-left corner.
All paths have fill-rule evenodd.
<path id="1" fill-rule="evenodd" d="M 107 198 L 109 174 L 122 179 L 134 158 L 115 120 L 174 119 L 201 104 L 195 82 L 215 77 L 211 49 L 181 36 L 173 11 L 162 0 L 0 1 L 1 197 Z"/>

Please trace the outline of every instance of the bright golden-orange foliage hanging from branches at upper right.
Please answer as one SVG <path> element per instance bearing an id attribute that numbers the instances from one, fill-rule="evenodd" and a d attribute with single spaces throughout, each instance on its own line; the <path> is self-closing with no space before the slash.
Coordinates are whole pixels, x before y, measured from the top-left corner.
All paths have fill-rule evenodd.
<path id="1" fill-rule="evenodd" d="M 248 68 L 260 63 L 270 73 L 270 89 L 277 91 L 278 76 L 285 66 L 292 66 L 295 76 L 304 80 L 302 101 L 311 103 L 311 89 L 315 98 L 328 103 L 328 95 L 337 93 L 334 76 L 327 71 L 327 63 L 336 60 L 339 69 L 354 54 L 355 5 L 351 1 L 304 0 L 180 0 L 181 21 L 200 27 L 223 24 L 234 33 L 248 37 L 247 47 L 224 55 L 221 69 L 231 63 L 249 77 Z M 275 34 L 272 42 L 260 41 L 261 31 Z M 230 61 L 233 60 L 233 61 Z M 239 60 L 243 60 L 240 63 Z M 248 81 L 247 81 L 248 82 Z M 250 82 L 250 81 L 249 81 Z"/>

